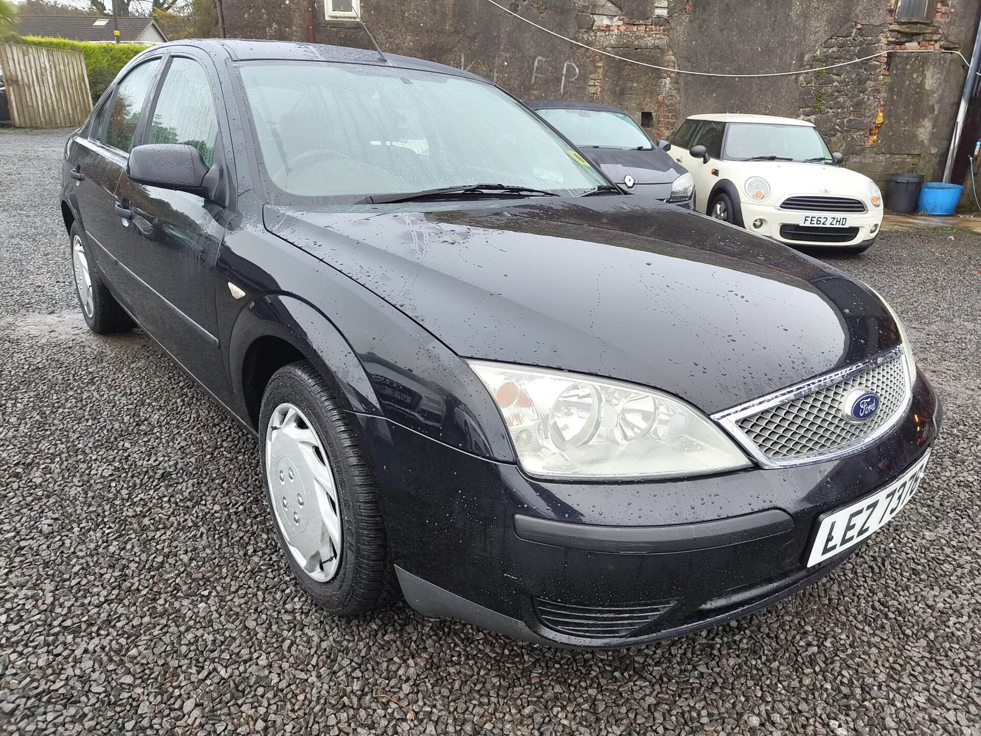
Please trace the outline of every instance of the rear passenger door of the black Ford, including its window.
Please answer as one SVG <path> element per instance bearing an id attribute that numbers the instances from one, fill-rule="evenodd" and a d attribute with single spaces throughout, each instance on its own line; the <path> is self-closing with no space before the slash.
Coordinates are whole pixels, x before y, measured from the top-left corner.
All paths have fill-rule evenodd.
<path id="1" fill-rule="evenodd" d="M 118 289 L 118 273 L 112 254 L 116 249 L 116 187 L 126 169 L 125 142 L 136 130 L 144 100 L 150 90 L 159 59 L 151 59 L 129 71 L 105 96 L 84 135 L 76 137 L 70 176 L 82 229 L 99 269 Z M 123 147 L 123 150 L 119 148 Z"/>

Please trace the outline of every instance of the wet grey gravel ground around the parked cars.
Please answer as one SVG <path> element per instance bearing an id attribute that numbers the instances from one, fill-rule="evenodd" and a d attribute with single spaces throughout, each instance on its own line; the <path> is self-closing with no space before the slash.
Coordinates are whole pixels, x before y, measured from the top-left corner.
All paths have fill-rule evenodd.
<path id="1" fill-rule="evenodd" d="M 143 336 L 86 331 L 66 135 L 0 132 L 0 732 L 981 734 L 981 237 L 835 261 L 898 307 L 945 403 L 901 516 L 762 613 L 571 653 L 306 601 L 255 443 Z"/>

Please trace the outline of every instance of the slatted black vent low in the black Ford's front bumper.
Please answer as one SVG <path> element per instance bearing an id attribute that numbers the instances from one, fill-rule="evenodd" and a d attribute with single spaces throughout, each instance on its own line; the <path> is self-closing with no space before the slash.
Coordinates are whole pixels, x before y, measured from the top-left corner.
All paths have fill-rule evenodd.
<path id="1" fill-rule="evenodd" d="M 535 607 L 542 623 L 554 631 L 588 639 L 616 639 L 646 628 L 675 603 L 570 605 L 536 599 Z"/>

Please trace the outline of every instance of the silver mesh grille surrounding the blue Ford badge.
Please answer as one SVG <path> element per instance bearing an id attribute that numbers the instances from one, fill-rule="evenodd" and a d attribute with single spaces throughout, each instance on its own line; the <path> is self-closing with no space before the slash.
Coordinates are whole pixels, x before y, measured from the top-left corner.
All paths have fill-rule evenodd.
<path id="1" fill-rule="evenodd" d="M 879 396 L 879 410 L 868 421 L 853 422 L 842 414 L 845 397 L 855 389 Z M 872 434 L 904 407 L 906 394 L 903 358 L 895 357 L 812 394 L 750 414 L 737 424 L 771 460 L 800 457 Z"/>

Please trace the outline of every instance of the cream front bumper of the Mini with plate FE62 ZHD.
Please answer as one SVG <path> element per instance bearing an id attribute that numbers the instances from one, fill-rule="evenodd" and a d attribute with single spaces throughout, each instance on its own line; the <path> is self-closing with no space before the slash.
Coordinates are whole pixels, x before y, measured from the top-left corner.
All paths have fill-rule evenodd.
<path id="1" fill-rule="evenodd" d="M 743 224 L 750 233 L 772 237 L 778 242 L 795 247 L 848 248 L 871 241 L 882 227 L 882 208 L 870 207 L 866 212 L 803 212 L 782 210 L 776 205 L 757 204 L 742 200 Z M 848 217 L 849 228 L 801 228 L 801 217 L 817 215 Z M 761 220 L 760 227 L 753 223 Z M 809 232 L 808 232 L 809 231 Z"/>

